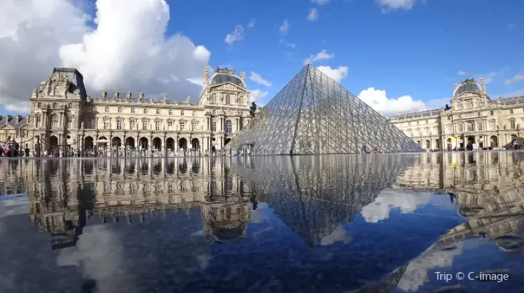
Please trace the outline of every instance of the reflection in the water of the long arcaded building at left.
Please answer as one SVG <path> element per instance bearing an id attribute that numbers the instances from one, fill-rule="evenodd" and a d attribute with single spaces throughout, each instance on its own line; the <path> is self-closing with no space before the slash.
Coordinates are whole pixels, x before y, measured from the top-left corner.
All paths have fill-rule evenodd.
<path id="1" fill-rule="evenodd" d="M 8 172 L 24 174 L 31 219 L 61 248 L 74 245 L 90 217 L 143 222 L 197 206 L 208 234 L 217 241 L 238 238 L 249 222 L 249 186 L 228 172 L 229 164 L 216 158 L 22 160 Z"/>

